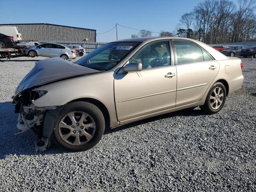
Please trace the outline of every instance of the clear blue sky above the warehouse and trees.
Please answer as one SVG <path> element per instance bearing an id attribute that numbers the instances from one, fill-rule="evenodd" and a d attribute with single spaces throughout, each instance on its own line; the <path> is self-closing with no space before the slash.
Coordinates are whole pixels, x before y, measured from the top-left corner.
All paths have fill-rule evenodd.
<path id="1" fill-rule="evenodd" d="M 3 1 L 3 0 L 1 0 Z M 116 23 L 154 32 L 172 32 L 180 17 L 202 0 L 12 0 L 15 8 L 0 7 L 0 23 L 50 23 L 106 32 Z M 8 3 L 7 3 L 8 4 Z M 18 14 L 11 13 L 12 11 Z M 118 39 L 136 30 L 118 28 Z M 158 34 L 154 34 L 158 36 Z M 116 31 L 98 34 L 97 42 L 116 39 Z"/>

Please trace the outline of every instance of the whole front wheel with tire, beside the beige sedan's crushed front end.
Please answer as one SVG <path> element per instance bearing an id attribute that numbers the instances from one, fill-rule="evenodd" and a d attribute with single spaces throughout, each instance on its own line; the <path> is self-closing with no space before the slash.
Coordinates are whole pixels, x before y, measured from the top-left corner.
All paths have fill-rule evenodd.
<path id="1" fill-rule="evenodd" d="M 97 106 L 89 102 L 72 102 L 61 110 L 53 135 L 60 146 L 84 151 L 100 141 L 104 128 L 104 116 Z"/>

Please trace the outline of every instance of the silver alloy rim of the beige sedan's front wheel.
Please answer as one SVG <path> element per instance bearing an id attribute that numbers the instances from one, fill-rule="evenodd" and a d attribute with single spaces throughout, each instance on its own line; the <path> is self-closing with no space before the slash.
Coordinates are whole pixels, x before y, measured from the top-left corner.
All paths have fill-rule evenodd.
<path id="1" fill-rule="evenodd" d="M 82 111 L 72 111 L 64 115 L 58 125 L 62 140 L 70 145 L 83 145 L 94 136 L 96 124 L 94 119 Z"/>

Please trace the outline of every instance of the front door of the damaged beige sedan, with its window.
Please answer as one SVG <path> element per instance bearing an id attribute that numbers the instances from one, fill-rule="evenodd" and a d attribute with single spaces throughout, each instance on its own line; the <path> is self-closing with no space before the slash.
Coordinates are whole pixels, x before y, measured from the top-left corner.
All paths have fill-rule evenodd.
<path id="1" fill-rule="evenodd" d="M 176 67 L 171 66 L 168 40 L 144 46 L 129 62 L 141 62 L 142 71 L 122 72 L 114 78 L 114 96 L 120 124 L 175 107 Z"/>

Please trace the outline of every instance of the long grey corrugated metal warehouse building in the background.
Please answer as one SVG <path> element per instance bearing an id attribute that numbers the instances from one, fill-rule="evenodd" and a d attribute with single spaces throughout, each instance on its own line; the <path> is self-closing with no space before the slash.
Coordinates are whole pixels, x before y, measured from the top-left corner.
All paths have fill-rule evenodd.
<path id="1" fill-rule="evenodd" d="M 96 30 L 54 25 L 48 23 L 34 24 L 0 24 L 1 26 L 16 26 L 20 29 L 22 40 L 38 42 L 96 42 Z"/>

